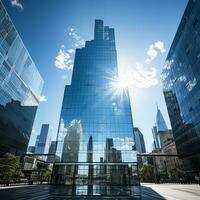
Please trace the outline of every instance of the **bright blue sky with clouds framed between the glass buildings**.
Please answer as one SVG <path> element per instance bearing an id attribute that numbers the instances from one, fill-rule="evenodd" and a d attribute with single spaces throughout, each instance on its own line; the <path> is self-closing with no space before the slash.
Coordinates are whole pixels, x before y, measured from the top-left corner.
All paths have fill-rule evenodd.
<path id="1" fill-rule="evenodd" d="M 93 39 L 94 20 L 103 19 L 115 28 L 118 66 L 129 80 L 134 126 L 150 151 L 156 103 L 170 127 L 160 72 L 188 1 L 2 1 L 45 81 L 46 101 L 39 104 L 30 144 L 42 123 L 50 123 L 56 137 L 64 86 L 71 80 L 72 49 Z"/>

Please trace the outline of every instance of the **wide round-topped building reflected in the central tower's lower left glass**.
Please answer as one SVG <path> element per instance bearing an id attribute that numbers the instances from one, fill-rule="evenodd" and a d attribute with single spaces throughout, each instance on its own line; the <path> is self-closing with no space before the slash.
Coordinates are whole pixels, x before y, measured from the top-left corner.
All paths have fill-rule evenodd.
<path id="1" fill-rule="evenodd" d="M 72 121 L 70 126 L 66 129 L 62 162 L 78 162 L 82 133 L 81 122 L 77 120 Z"/>

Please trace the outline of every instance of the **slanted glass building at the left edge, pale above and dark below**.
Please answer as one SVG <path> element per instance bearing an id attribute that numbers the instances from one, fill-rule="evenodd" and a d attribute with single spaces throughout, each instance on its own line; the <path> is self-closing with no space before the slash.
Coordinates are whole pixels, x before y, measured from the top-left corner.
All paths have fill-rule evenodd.
<path id="1" fill-rule="evenodd" d="M 43 79 L 0 1 L 0 154 L 26 153 Z"/>

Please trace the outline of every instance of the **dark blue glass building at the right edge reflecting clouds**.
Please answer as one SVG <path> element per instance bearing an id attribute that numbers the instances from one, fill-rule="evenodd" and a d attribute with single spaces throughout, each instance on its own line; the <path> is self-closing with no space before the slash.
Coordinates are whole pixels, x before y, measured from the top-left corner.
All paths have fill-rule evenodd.
<path id="1" fill-rule="evenodd" d="M 168 53 L 163 90 L 178 154 L 186 171 L 200 169 L 200 1 L 190 0 Z"/>

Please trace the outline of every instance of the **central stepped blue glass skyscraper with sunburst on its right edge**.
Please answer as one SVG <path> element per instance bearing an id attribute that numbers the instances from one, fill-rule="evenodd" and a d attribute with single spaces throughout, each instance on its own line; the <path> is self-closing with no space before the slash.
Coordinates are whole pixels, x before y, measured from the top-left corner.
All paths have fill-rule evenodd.
<path id="1" fill-rule="evenodd" d="M 114 185 L 134 194 L 139 185 L 129 95 L 117 77 L 114 29 L 95 20 L 94 40 L 76 49 L 65 87 L 52 176 L 76 186 L 74 194 L 109 195 Z"/>

